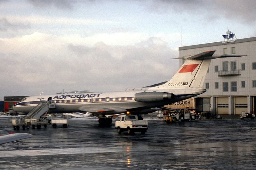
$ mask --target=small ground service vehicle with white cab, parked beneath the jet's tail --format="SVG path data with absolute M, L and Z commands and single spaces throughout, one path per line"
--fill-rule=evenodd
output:
M 191 122 L 191 120 L 194 120 L 195 116 L 190 114 L 189 109 L 170 109 L 169 115 L 164 117 L 164 120 L 167 123 L 170 122 L 176 122 L 180 120 L 181 122 L 184 122 L 187 120 L 188 122 Z

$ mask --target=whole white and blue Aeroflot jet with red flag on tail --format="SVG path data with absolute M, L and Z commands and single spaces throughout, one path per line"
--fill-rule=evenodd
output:
M 205 75 L 211 59 L 224 57 L 240 57 L 244 55 L 214 55 L 215 51 L 205 51 L 191 56 L 175 59 L 185 60 L 184 64 L 173 75 L 171 80 L 155 85 L 126 89 L 122 92 L 90 91 L 61 93 L 49 96 L 29 96 L 13 106 L 20 114 L 27 114 L 41 101 L 48 101 L 54 107 L 48 113 L 90 112 L 99 117 L 100 124 L 111 124 L 109 114 L 132 113 L 140 114 L 150 108 L 179 102 L 200 95 L 203 89 Z

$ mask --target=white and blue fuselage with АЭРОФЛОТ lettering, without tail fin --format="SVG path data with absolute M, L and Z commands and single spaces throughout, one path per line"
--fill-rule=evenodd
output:
M 160 90 L 159 93 L 170 93 L 170 90 Z M 20 103 L 13 106 L 13 110 L 21 114 L 30 112 L 40 101 L 49 101 L 55 104 L 54 109 L 49 109 L 48 113 L 68 113 L 68 112 L 97 112 L 97 113 L 123 113 L 126 111 L 136 111 L 160 107 L 166 104 L 185 100 L 187 98 L 203 93 L 204 89 L 172 89 L 171 98 L 157 98 L 152 101 L 141 102 L 136 94 L 157 92 L 156 90 L 137 90 L 123 92 L 100 92 L 100 93 L 64 93 L 47 96 L 29 96 Z M 160 94 L 161 95 L 161 94 Z M 138 101 L 139 100 L 139 101 Z M 103 109 L 101 109 L 103 108 Z M 108 110 L 104 110 L 107 108 Z

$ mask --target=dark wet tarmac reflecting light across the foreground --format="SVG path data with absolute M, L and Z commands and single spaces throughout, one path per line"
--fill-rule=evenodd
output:
M 32 138 L 0 145 L 1 169 L 256 169 L 256 120 L 198 120 L 166 124 L 149 119 L 145 135 L 119 135 L 97 119 L 70 119 L 46 129 L 14 131 L 0 118 L 0 134 Z

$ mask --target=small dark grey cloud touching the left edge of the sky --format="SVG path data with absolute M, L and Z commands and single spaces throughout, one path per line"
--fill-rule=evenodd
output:
M 7 18 L 0 18 L 0 32 L 30 29 L 30 23 L 10 22 Z

